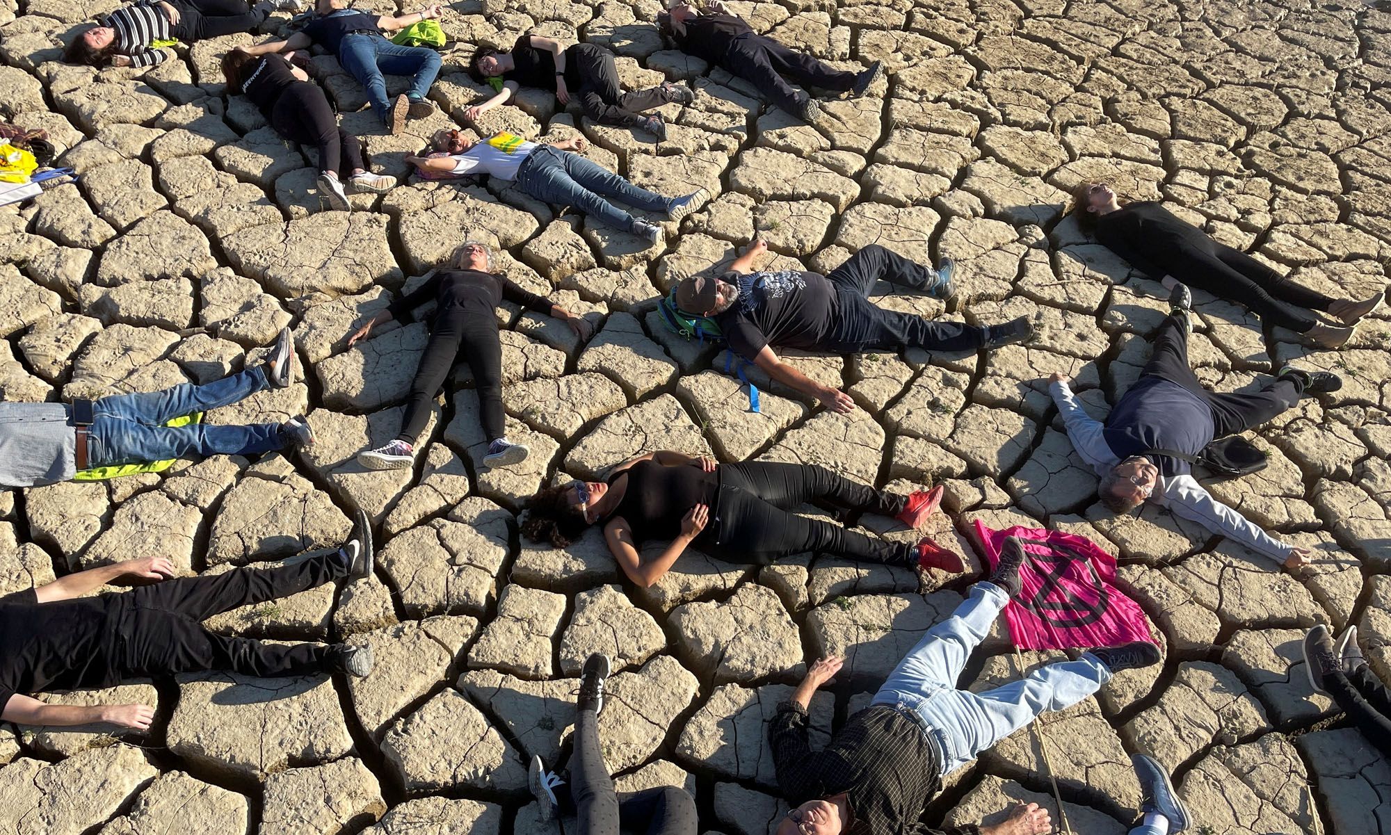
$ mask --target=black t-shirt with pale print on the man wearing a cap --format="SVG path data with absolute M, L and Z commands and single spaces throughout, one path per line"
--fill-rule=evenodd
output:
M 739 299 L 715 317 L 730 349 L 754 356 L 765 345 L 815 351 L 825 345 L 836 319 L 836 288 L 819 273 L 780 270 L 725 281 L 739 284 Z

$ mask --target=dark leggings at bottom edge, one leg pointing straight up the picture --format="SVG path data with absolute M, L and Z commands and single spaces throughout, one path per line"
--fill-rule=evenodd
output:
M 696 835 L 696 802 L 684 789 L 613 792 L 593 710 L 581 710 L 574 718 L 569 778 L 556 786 L 555 799 L 562 814 L 579 818 L 579 835 L 618 835 L 619 821 L 647 835 Z

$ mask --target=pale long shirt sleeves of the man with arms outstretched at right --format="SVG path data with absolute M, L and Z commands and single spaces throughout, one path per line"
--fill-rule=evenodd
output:
M 1111 468 L 1121 459 L 1106 444 L 1106 437 L 1102 434 L 1104 424 L 1082 411 L 1067 383 L 1050 384 L 1049 394 L 1053 395 L 1053 402 L 1057 404 L 1059 412 L 1063 415 L 1067 437 L 1072 441 L 1072 448 L 1077 450 L 1082 461 L 1091 465 L 1099 476 L 1111 472 Z M 1294 551 L 1294 546 L 1271 537 L 1259 525 L 1213 498 L 1207 488 L 1191 475 L 1164 476 L 1160 473 L 1149 501 L 1168 508 L 1175 516 L 1198 522 L 1207 530 L 1220 533 L 1277 562 L 1283 564 Z

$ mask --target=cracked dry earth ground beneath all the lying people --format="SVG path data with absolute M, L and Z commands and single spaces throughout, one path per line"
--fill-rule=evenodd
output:
M 377 668 L 352 682 L 218 674 L 49 694 L 145 701 L 159 715 L 143 736 L 0 728 L 0 831 L 541 832 L 526 758 L 554 764 L 565 750 L 574 676 L 590 651 L 606 651 L 616 671 L 601 735 L 619 788 L 684 785 L 702 831 L 762 835 L 786 809 L 764 735 L 776 701 L 810 660 L 837 651 L 846 675 L 817 696 L 817 733 L 864 706 L 979 576 L 965 536 L 976 519 L 1060 527 L 1113 550 L 1163 636 L 1161 667 L 1124 672 L 1039 722 L 1075 832 L 1120 834 L 1132 821 L 1129 752 L 1175 772 L 1205 832 L 1391 828 L 1391 767 L 1310 694 L 1298 643 L 1319 621 L 1358 623 L 1372 664 L 1391 678 L 1391 320 L 1365 324 L 1345 351 L 1310 352 L 1199 294 L 1192 355 L 1214 387 L 1256 387 L 1291 359 L 1346 381 L 1260 430 L 1266 472 L 1213 486 L 1317 551 L 1299 576 L 1167 514 L 1110 518 L 1042 383 L 1071 374 L 1103 415 L 1139 373 L 1145 335 L 1164 313 L 1159 285 L 1061 217 L 1066 193 L 1086 178 L 1161 196 L 1320 289 L 1362 298 L 1385 283 L 1391 14 L 1338 0 L 732 1 L 755 28 L 832 61 L 886 63 L 869 96 L 830 102 L 814 127 L 665 49 L 648 24 L 652 0 L 447 7 L 458 45 L 431 92 L 441 110 L 403 136 L 353 113 L 362 89 L 331 57 L 314 60 L 373 167 L 398 177 L 423 136 L 470 127 L 462 111 L 481 89 L 462 68 L 476 42 L 505 46 L 530 29 L 581 38 L 615 50 L 632 86 L 690 84 L 696 102 L 665 109 L 670 136 L 659 146 L 534 93 L 477 125 L 484 135 L 580 131 L 597 161 L 641 185 L 712 191 L 650 246 L 498 182 L 406 185 L 352 198 L 352 214 L 321 212 L 306 152 L 220 82 L 218 56 L 252 36 L 199 43 L 145 72 L 54 61 L 60 36 L 114 6 L 0 4 L 0 110 L 46 128 L 82 174 L 75 188 L 0 209 L 0 392 L 43 401 L 209 380 L 257 362 L 257 347 L 289 326 L 303 383 L 211 419 L 309 411 L 320 441 L 302 456 L 0 493 L 0 591 L 135 555 L 166 555 L 184 572 L 280 559 L 338 543 L 362 508 L 381 548 L 374 578 L 211 626 L 364 642 Z M 951 316 L 1029 315 L 1039 337 L 989 356 L 798 358 L 861 411 L 826 413 L 764 385 L 762 412 L 748 413 L 721 373 L 725 358 L 675 341 L 652 310 L 673 281 L 727 262 L 755 230 L 773 263 L 822 271 L 871 242 L 951 256 L 963 289 Z M 508 434 L 531 447 L 524 466 L 480 469 L 465 367 L 417 469 L 363 472 L 353 454 L 396 431 L 426 330 L 385 330 L 352 351 L 342 337 L 466 235 L 495 239 L 515 280 L 586 312 L 597 333 L 579 344 L 554 320 L 499 310 Z M 886 306 L 943 313 L 882 289 Z M 689 554 L 640 590 L 594 532 L 566 551 L 519 541 L 516 514 L 540 484 L 655 448 L 818 462 L 904 490 L 944 483 L 947 512 L 932 533 L 965 554 L 970 575 L 821 555 L 758 569 Z M 911 536 L 883 518 L 850 523 Z M 965 683 L 1020 672 L 997 630 Z M 1020 732 L 954 775 L 928 820 L 979 820 L 1007 799 L 1053 807 L 1046 790 L 1038 736 Z

